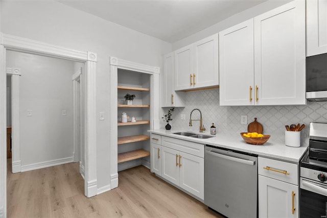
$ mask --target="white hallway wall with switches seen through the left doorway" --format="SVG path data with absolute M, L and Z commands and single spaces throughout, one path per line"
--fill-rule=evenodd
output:
M 7 66 L 19 67 L 22 167 L 73 156 L 74 62 L 7 51 Z M 32 110 L 32 116 L 27 111 Z M 66 110 L 66 116 L 61 111 Z

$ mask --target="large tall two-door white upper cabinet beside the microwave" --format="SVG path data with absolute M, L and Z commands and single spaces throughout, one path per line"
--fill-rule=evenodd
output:
M 254 17 L 219 37 L 220 105 L 306 104 L 305 1 Z

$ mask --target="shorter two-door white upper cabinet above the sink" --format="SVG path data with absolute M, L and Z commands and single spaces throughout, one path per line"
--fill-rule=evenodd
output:
M 174 55 L 175 90 L 219 84 L 218 34 L 182 47 Z

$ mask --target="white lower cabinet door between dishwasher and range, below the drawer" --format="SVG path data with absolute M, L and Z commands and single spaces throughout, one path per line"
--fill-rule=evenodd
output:
M 298 186 L 259 175 L 258 191 L 259 217 L 298 217 Z

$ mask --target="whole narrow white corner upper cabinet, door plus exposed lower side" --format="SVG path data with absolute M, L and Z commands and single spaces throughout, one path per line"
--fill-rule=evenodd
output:
M 184 107 L 184 92 L 175 92 L 174 53 L 163 57 L 162 107 Z

